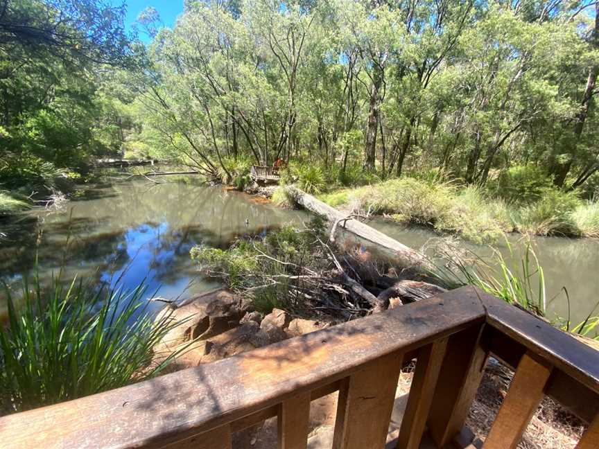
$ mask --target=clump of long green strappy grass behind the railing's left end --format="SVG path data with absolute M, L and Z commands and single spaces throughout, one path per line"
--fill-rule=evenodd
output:
M 43 289 L 23 282 L 21 310 L 8 287 L 8 324 L 0 327 L 3 412 L 58 403 L 156 376 L 178 353 L 153 364 L 153 347 L 180 324 L 154 319 L 146 288 L 94 288 L 60 276 Z

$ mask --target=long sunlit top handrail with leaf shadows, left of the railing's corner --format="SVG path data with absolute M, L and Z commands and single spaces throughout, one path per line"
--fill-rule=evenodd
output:
M 473 288 L 285 340 L 219 362 L 0 419 L 12 448 L 161 448 L 233 423 L 485 319 Z M 119 423 L 119 425 L 114 425 Z

